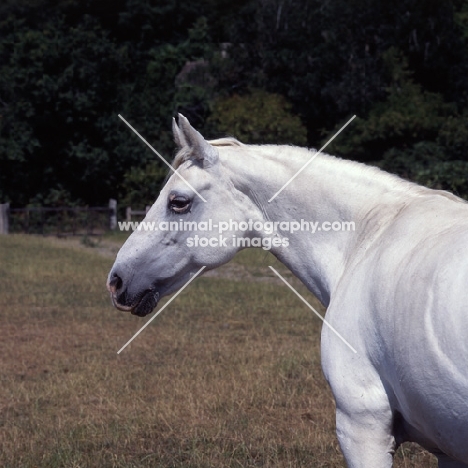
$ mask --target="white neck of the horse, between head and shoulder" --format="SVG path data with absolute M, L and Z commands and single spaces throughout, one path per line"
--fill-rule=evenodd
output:
M 312 152 L 285 146 L 246 146 L 220 151 L 220 157 L 236 189 L 261 209 L 265 220 L 318 223 L 314 234 L 285 233 L 289 247 L 272 249 L 272 253 L 325 306 L 351 260 L 350 252 L 371 242 L 385 224 L 383 220 L 396 213 L 416 187 L 363 164 L 318 155 L 269 202 L 313 157 Z M 324 222 L 354 222 L 355 230 L 319 230 Z

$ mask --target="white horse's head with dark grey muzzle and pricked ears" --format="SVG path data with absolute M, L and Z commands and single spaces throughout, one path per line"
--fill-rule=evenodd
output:
M 202 266 L 205 271 L 216 268 L 240 250 L 230 242 L 236 235 L 230 220 L 261 217 L 255 204 L 234 187 L 216 145 L 182 115 L 179 124 L 173 121 L 173 132 L 179 150 L 173 163 L 177 172 L 141 229 L 120 249 L 107 281 L 114 306 L 142 317 Z M 220 223 L 228 226 L 223 234 L 217 229 Z

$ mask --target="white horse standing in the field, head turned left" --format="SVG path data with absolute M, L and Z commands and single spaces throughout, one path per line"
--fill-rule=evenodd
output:
M 468 204 L 322 154 L 269 203 L 313 152 L 208 142 L 183 116 L 174 137 L 180 151 L 173 166 L 185 180 L 169 178 L 146 221 L 205 224 L 135 231 L 109 274 L 114 305 L 146 315 L 202 266 L 228 262 L 240 247 L 207 232 L 210 219 L 213 226 L 245 221 L 248 231 L 231 222 L 224 234 L 251 240 L 271 240 L 258 229 L 267 221 L 354 221 L 354 232 L 279 229 L 271 242 L 357 351 L 322 328 L 322 367 L 348 466 L 391 467 L 396 448 L 414 441 L 441 468 L 467 467 Z M 211 246 L 195 248 L 196 235 Z

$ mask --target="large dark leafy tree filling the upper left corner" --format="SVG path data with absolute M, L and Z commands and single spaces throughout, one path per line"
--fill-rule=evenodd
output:
M 62 1 L 57 10 L 45 0 L 3 5 L 2 200 L 25 205 L 52 200 L 57 191 L 93 204 L 123 196 L 124 174 L 144 168 L 154 155 L 122 124 L 119 113 L 170 157 L 171 117 L 181 98 L 175 78 L 187 61 L 203 57 L 210 47 L 202 20 L 186 36 L 176 31 L 173 43 L 163 40 L 174 5 L 151 9 L 158 19 L 154 24 L 164 25 L 151 32 L 153 38 L 160 35 L 151 46 L 144 27 L 137 38 L 122 39 L 126 8 L 146 12 L 146 2 L 120 2 L 122 11 L 112 11 L 110 19 L 93 2 Z M 199 99 L 190 90 L 184 93 L 182 107 Z

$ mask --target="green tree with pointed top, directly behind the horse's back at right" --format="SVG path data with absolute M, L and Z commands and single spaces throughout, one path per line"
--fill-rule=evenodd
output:
M 389 49 L 384 60 L 391 77 L 386 100 L 376 103 L 366 118 L 356 119 L 334 149 L 468 198 L 468 114 L 416 84 L 396 49 Z

